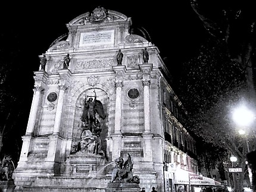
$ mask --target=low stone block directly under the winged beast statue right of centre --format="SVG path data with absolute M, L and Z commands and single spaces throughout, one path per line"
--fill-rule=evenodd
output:
M 105 191 L 107 192 L 139 192 L 141 191 L 141 188 L 139 187 L 138 183 L 135 182 L 109 182 L 107 185 L 107 188 L 105 188 Z

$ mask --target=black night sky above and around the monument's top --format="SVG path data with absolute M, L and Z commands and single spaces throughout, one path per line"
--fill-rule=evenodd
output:
M 189 0 L 5 2 L 0 12 L 0 61 L 15 68 L 11 86 L 24 97 L 25 124 L 33 97 L 33 71 L 40 65 L 38 55 L 68 33 L 65 24 L 98 6 L 131 17 L 133 24 L 146 29 L 172 74 L 179 75 L 180 64 L 196 55 L 207 34 Z

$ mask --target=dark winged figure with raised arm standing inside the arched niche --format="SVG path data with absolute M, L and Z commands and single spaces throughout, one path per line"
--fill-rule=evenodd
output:
M 82 121 L 82 127 L 85 130 L 90 130 L 92 134 L 99 137 L 99 133 L 101 133 L 101 123 L 96 118 L 96 114 L 98 114 L 102 119 L 105 119 L 106 115 L 101 101 L 96 99 L 95 90 L 93 90 L 93 93 L 95 93 L 94 100 L 92 99 L 93 96 L 86 96 L 83 114 L 80 119 Z

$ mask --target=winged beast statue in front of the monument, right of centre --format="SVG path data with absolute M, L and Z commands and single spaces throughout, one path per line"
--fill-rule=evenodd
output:
M 115 159 L 115 168 L 110 182 L 134 182 L 139 184 L 139 176 L 133 176 L 132 169 L 133 163 L 129 153 L 126 162 L 124 162 L 123 158 Z

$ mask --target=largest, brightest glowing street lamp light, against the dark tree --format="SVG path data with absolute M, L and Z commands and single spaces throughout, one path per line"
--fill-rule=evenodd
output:
M 254 113 L 246 108 L 246 106 L 240 106 L 233 112 L 233 120 L 237 125 L 249 126 L 254 121 Z

